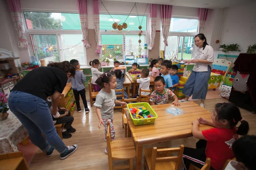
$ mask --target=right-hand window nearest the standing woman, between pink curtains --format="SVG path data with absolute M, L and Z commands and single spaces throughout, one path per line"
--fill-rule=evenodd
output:
M 162 29 L 162 27 L 161 27 Z M 194 37 L 198 34 L 198 19 L 178 18 L 171 19 L 168 35 L 168 46 L 163 43 L 161 31 L 160 50 L 165 51 L 166 59 L 191 59 L 194 47 Z

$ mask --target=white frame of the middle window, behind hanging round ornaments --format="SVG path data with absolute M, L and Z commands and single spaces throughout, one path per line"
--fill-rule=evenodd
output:
M 108 14 L 108 12 L 99 12 L 99 14 Z M 128 15 L 129 13 L 122 13 L 122 12 L 111 12 L 110 14 L 113 14 L 113 15 Z M 136 15 L 135 13 L 131 13 L 130 15 Z M 138 13 L 138 15 L 142 15 L 143 14 L 140 14 Z M 145 16 L 147 16 L 147 27 L 146 27 L 146 30 L 143 31 L 141 34 L 142 35 L 145 35 L 145 44 L 148 44 L 148 34 L 149 34 L 149 14 L 145 14 Z M 110 31 L 110 30 L 108 30 Z M 125 43 L 125 35 L 138 35 L 139 34 L 139 31 L 140 30 L 137 30 L 137 31 L 129 31 L 129 29 L 123 29 L 122 32 L 118 31 L 118 29 L 114 30 L 114 32 L 105 32 L 105 30 L 99 30 L 99 40 L 102 42 L 102 39 L 101 39 L 101 36 L 102 34 L 108 34 L 108 35 L 123 35 L 123 47 L 124 47 L 124 43 Z M 138 35 L 138 40 L 139 40 L 139 35 Z M 143 45 L 144 46 L 144 45 Z M 123 62 L 125 62 L 125 51 L 124 51 L 124 48 L 122 48 L 122 54 L 123 54 Z M 145 54 L 144 54 L 145 55 Z M 147 49 L 147 55 L 148 55 L 148 49 Z M 102 54 L 99 55 L 99 58 L 101 59 L 102 58 Z

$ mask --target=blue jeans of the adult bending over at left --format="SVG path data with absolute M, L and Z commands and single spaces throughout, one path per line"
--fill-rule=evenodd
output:
M 28 130 L 33 144 L 43 152 L 49 150 L 50 146 L 59 153 L 64 153 L 67 150 L 66 145 L 56 132 L 51 112 L 44 99 L 21 91 L 12 91 L 9 95 L 8 105 L 12 113 Z M 42 132 L 48 142 L 44 139 Z

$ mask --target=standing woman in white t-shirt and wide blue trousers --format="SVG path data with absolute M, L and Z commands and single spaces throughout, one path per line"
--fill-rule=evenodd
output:
M 192 99 L 201 99 L 200 106 L 204 108 L 204 100 L 208 90 L 208 81 L 211 76 L 212 62 L 214 60 L 213 48 L 207 44 L 204 34 L 197 34 L 194 39 L 196 48 L 191 60 L 186 62 L 195 63 L 195 66 L 183 88 L 185 99 L 180 102 L 187 102 L 193 94 Z

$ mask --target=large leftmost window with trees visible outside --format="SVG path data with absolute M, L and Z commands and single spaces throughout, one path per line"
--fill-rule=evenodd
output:
M 24 11 L 31 53 L 46 62 L 79 60 L 87 65 L 79 14 Z

